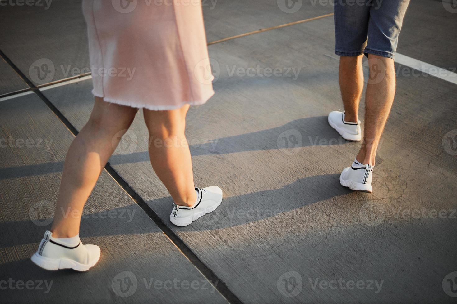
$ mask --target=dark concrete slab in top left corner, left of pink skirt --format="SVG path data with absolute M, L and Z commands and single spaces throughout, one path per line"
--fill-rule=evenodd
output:
M 21 72 L 35 85 L 88 72 L 81 0 L 16 2 L 2 4 L 8 31 L 0 32 L 0 49 Z

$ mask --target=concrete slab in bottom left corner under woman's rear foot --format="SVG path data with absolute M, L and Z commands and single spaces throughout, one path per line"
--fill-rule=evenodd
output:
M 34 265 L 73 136 L 35 94 L 0 102 L 0 121 L 2 303 L 226 303 L 106 172 L 80 232 L 100 262 L 87 273 Z

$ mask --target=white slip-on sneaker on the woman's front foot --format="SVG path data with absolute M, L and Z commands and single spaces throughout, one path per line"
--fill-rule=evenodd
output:
M 222 202 L 222 189 L 218 186 L 195 188 L 198 192 L 197 201 L 192 207 L 184 207 L 173 204 L 170 214 L 170 222 L 176 226 L 187 226 L 199 217 L 216 210 Z

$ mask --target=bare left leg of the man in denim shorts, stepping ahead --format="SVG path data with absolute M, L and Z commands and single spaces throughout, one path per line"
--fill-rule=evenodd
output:
M 345 121 L 357 122 L 358 108 L 363 91 L 363 55 L 340 57 L 340 91 L 345 109 Z

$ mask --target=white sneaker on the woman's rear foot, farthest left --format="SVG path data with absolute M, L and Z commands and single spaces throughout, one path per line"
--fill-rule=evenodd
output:
M 32 262 L 47 270 L 72 268 L 86 271 L 94 266 L 100 258 L 100 247 L 83 245 L 80 242 L 75 247 L 59 244 L 52 237 L 52 232 L 44 233 L 38 251 L 32 255 Z

